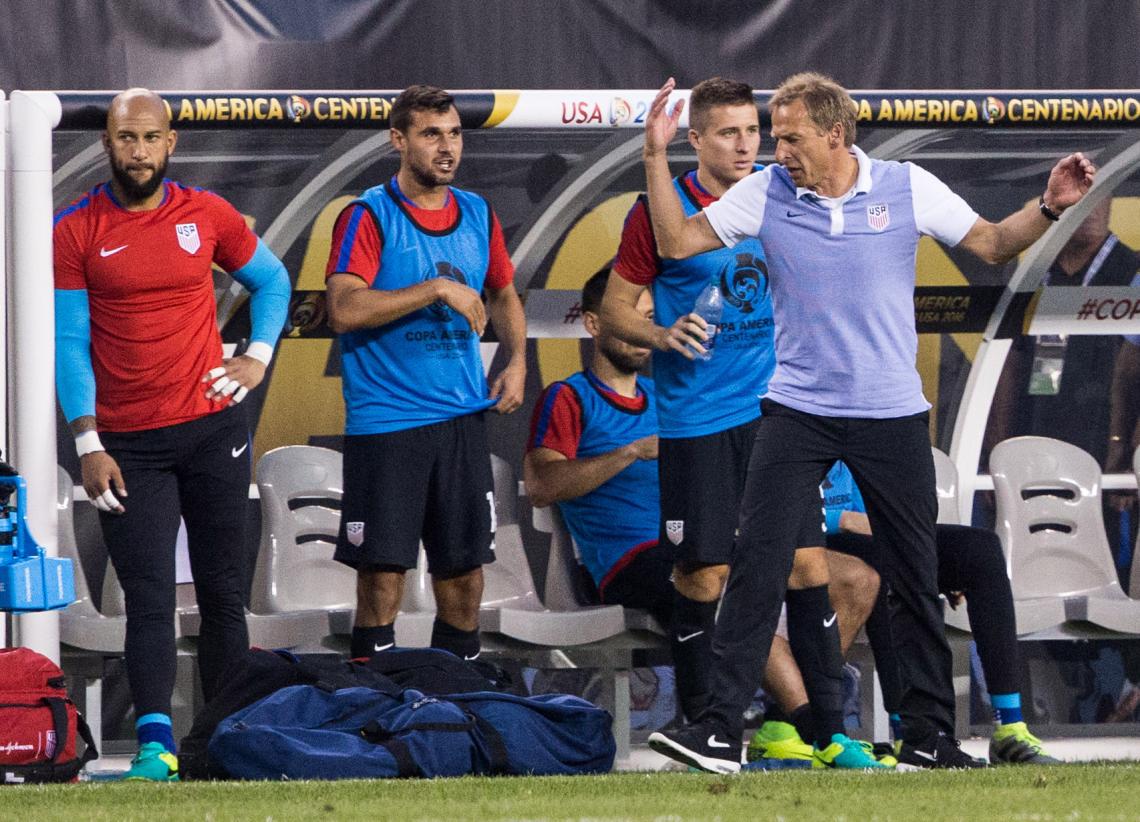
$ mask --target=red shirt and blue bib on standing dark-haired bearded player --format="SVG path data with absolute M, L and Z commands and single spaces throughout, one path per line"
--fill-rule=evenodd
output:
M 337 218 L 326 276 L 352 274 L 377 291 L 448 277 L 475 291 L 514 277 L 502 229 L 477 194 L 448 190 L 442 209 L 418 209 L 394 178 Z M 345 433 L 400 431 L 494 405 L 466 319 L 435 303 L 377 328 L 341 334 Z

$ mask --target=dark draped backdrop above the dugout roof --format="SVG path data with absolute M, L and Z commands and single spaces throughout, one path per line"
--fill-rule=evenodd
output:
M 1140 88 L 1132 0 L 5 0 L 11 89 Z

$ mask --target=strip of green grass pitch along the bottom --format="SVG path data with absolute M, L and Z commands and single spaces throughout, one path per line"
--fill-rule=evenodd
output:
M 60 820 L 1140 820 L 1140 763 L 972 772 L 620 773 L 0 788 L 0 817 Z

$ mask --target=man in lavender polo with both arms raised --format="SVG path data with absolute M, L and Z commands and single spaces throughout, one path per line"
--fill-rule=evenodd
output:
M 886 558 L 904 682 L 899 764 L 977 767 L 953 739 L 951 654 L 935 552 L 930 404 L 914 366 L 914 257 L 921 235 L 1003 262 L 1036 241 L 1092 185 L 1081 154 L 1059 161 L 1039 203 L 997 223 L 933 174 L 870 160 L 855 105 L 829 78 L 797 74 L 772 96 L 776 163 L 685 218 L 666 150 L 682 104 L 674 81 L 645 121 L 645 176 L 658 251 L 684 258 L 758 237 L 768 258 L 776 369 L 749 465 L 740 537 L 714 637 L 711 702 L 699 721 L 654 733 L 658 751 L 718 773 L 740 768 L 741 715 L 772 643 L 805 500 L 842 459 Z M 699 344 L 705 323 L 685 327 Z

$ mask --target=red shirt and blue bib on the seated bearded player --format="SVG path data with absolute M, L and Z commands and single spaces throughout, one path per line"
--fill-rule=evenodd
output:
M 637 389 L 636 397 L 622 397 L 589 371 L 552 383 L 535 406 L 527 450 L 549 448 L 580 459 L 656 434 L 653 381 L 638 377 Z M 557 503 L 600 589 L 657 545 L 660 505 L 656 459 L 638 459 L 588 494 Z

